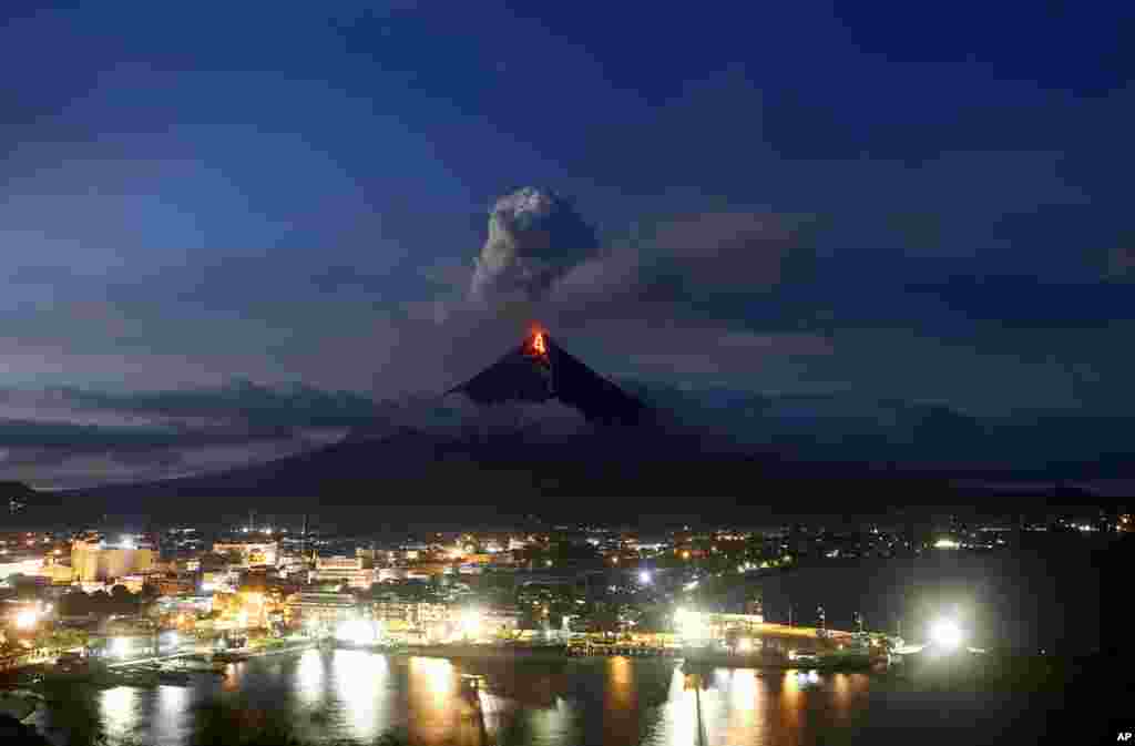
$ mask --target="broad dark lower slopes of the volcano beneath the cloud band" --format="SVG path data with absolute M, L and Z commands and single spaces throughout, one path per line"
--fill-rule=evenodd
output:
M 397 508 L 397 514 L 454 521 L 527 513 L 627 521 L 701 511 L 735 512 L 740 520 L 764 510 L 861 513 L 959 500 L 1000 513 L 1083 500 L 1058 500 L 1043 487 L 994 496 L 978 487 L 959 489 L 952 484 L 957 476 L 903 472 L 888 464 L 788 461 L 770 452 L 728 453 L 699 437 L 639 427 L 603 428 L 560 441 L 404 430 L 222 473 L 107 486 L 72 496 L 82 498 L 73 503 L 76 508 L 83 504 L 96 512 L 104 510 L 99 505 L 114 512 L 176 509 L 194 514 L 232 512 L 233 505 L 310 505 L 317 511 L 388 506 Z M 306 501 L 280 502 L 284 497 Z

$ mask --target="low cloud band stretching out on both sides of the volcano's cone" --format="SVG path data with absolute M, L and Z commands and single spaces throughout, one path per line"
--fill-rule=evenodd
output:
M 703 455 L 771 451 L 802 461 L 1039 473 L 1074 462 L 1111 464 L 1121 455 L 1111 453 L 1113 444 L 1129 428 L 1123 419 L 1036 417 L 1006 422 L 936 403 L 851 394 L 779 395 L 616 382 L 656 410 L 656 433 L 698 436 Z M 376 463 L 381 463 L 379 441 L 407 430 L 449 443 L 498 435 L 526 442 L 568 438 L 586 453 L 594 431 L 579 412 L 556 402 L 482 406 L 460 394 L 376 402 L 247 383 L 136 397 L 2 391 L 0 402 L 0 480 L 37 488 L 224 471 L 345 438 L 375 441 Z M 35 402 L 42 406 L 33 406 Z M 638 435 L 628 430 L 627 437 Z M 1108 473 L 1115 471 L 1112 466 Z

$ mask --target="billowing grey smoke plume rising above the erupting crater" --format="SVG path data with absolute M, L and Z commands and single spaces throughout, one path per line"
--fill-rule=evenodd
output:
M 493 206 L 470 295 L 494 303 L 539 300 L 557 279 L 598 251 L 595 228 L 568 199 L 526 186 Z

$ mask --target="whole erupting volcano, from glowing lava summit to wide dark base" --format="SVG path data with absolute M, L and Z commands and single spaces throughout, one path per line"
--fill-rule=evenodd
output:
M 449 396 L 464 400 L 453 408 L 457 412 L 469 403 L 485 411 L 471 418 L 472 425 L 460 417 L 454 422 L 446 419 Z M 56 494 L 98 514 L 107 509 L 145 514 L 155 498 L 169 497 L 191 498 L 169 502 L 170 510 L 184 505 L 187 512 L 217 513 L 234 498 L 267 506 L 280 497 L 303 497 L 343 510 L 380 505 L 402 516 L 444 505 L 455 523 L 528 514 L 537 504 L 544 512 L 592 510 L 611 520 L 634 519 L 645 501 L 659 497 L 695 496 L 698 509 L 709 500 L 735 508 L 767 504 L 765 495 L 801 504 L 805 496 L 838 493 L 849 481 L 880 505 L 906 504 L 911 494 L 947 504 L 958 494 L 952 481 L 959 475 L 952 470 L 903 472 L 890 462 L 835 459 L 839 452 L 827 461 L 808 460 L 799 456 L 802 446 L 796 442 L 745 446 L 729 431 L 690 426 L 665 399 L 647 395 L 646 401 L 650 404 L 536 328 L 445 395 L 376 408 L 371 422 L 337 443 L 226 471 Z M 510 420 L 495 428 L 479 419 L 495 408 L 511 413 L 510 405 L 545 403 L 574 410 L 588 427 L 562 433 Z M 403 404 L 407 414 L 400 412 Z M 763 497 L 755 502 L 758 492 Z

